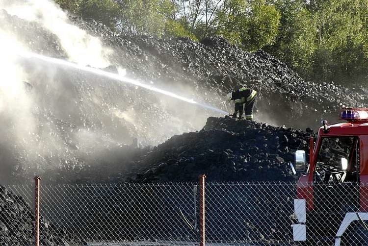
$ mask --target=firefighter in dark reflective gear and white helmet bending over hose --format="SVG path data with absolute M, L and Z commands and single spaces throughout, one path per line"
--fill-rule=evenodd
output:
M 233 118 L 243 119 L 243 107 L 245 110 L 245 119 L 253 121 L 253 105 L 257 97 L 257 91 L 250 88 L 240 88 L 237 91 L 231 92 L 226 96 L 226 99 L 235 102 L 235 112 L 232 115 Z

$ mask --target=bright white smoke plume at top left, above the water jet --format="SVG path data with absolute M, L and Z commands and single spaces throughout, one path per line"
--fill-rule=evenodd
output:
M 0 0 L 0 9 L 29 22 L 36 22 L 52 32 L 60 40 L 69 60 L 80 65 L 105 68 L 106 57 L 112 52 L 101 41 L 72 25 L 67 13 L 50 0 Z

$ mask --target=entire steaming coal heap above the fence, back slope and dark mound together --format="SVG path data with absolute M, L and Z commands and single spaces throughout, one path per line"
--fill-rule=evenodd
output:
M 27 40 L 26 43 L 30 44 L 28 49 L 68 59 L 58 38 L 42 25 L 4 11 L 0 15 L 0 24 L 7 31 L 14 32 L 11 27 L 17 26 L 14 35 L 20 41 Z M 317 127 L 321 118 L 336 119 L 340 107 L 355 105 L 355 101 L 367 101 L 366 94 L 359 90 L 333 83 L 305 81 L 276 57 L 262 50 L 251 53 L 238 49 L 222 37 L 208 37 L 201 42 L 188 38 L 158 39 L 117 34 L 92 20 L 73 17 L 71 23 L 100 37 L 103 44 L 113 51 L 108 57 L 111 65 L 125 68 L 128 77 L 145 83 L 153 82 L 173 91 L 190 91 L 188 96 L 228 111 L 233 110 L 233 105 L 224 102 L 223 98 L 229 91 L 245 85 L 255 88 L 259 91 L 256 119 L 273 125 Z M 27 159 L 26 153 L 13 149 L 17 145 L 22 150 L 23 143 L 8 145 L 9 140 L 0 144 L 5 145 L 3 149 L 9 153 L 9 166 L 18 162 L 24 162 L 24 166 L 28 163 L 52 168 L 67 166 L 63 173 L 70 175 L 71 179 L 64 179 L 61 174 L 60 179 L 68 182 L 76 179 L 80 182 L 87 179 L 90 182 L 131 179 L 139 182 L 181 181 L 194 180 L 200 172 L 207 173 L 213 180 L 290 180 L 293 176 L 289 173 L 288 162 L 292 160 L 292 152 L 302 138 L 310 134 L 292 128 L 238 123 L 228 118 L 210 118 L 204 129 L 194 132 L 215 113 L 198 110 L 184 102 L 165 108 L 161 98 L 147 90 L 81 71 L 55 68 L 56 82 L 60 86 L 57 91 L 68 95 L 61 97 L 60 110 L 55 103 L 55 97 L 60 95 L 48 91 L 42 83 L 42 78 L 47 77 L 43 74 L 47 69 L 36 70 L 31 62 L 24 63 L 28 66 L 26 70 L 35 74 L 30 78 L 37 104 L 32 114 L 40 123 L 53 123 L 50 128 L 39 127 L 38 135 L 60 136 L 63 143 L 61 147 L 56 145 L 56 149 L 47 148 L 32 160 Z M 50 65 L 43 66 L 47 68 Z M 186 110 L 182 110 L 183 107 Z M 128 110 L 133 112 L 130 120 L 121 114 Z M 96 148 L 81 150 L 81 140 L 86 140 L 86 137 L 77 138 L 75 133 L 84 132 L 86 128 L 87 132 L 100 133 L 90 142 L 99 147 L 97 150 L 106 152 L 106 156 L 119 152 L 119 144 L 129 145 L 134 138 L 144 145 L 156 145 L 174 134 L 192 132 L 174 136 L 152 152 L 134 156 L 132 160 L 113 158 L 113 161 L 107 161 L 107 158 L 99 158 L 101 154 Z M 8 134 L 8 130 L 5 133 Z M 12 134 L 16 132 L 10 136 Z M 48 139 L 26 140 L 29 143 L 24 148 L 33 144 L 49 146 Z M 307 148 L 305 143 L 302 142 L 301 147 Z M 124 172 L 119 170 L 119 175 L 109 172 L 116 171 L 122 162 L 131 173 L 125 168 Z M 109 170 L 110 166 L 113 168 Z M 78 167 L 78 173 L 74 172 L 75 167 Z M 94 173 L 96 167 L 107 170 L 108 177 L 101 172 L 102 169 Z M 140 173 L 136 175 L 135 170 L 140 170 Z M 9 176 L 5 171 L 2 173 Z M 36 171 L 37 175 L 42 175 L 42 170 Z M 82 173 L 88 175 L 80 179 Z M 73 179 L 73 176 L 77 178 Z

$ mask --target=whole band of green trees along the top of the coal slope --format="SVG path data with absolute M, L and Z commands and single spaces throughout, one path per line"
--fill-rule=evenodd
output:
M 307 79 L 368 79 L 368 0 L 56 0 L 117 32 L 265 49 Z

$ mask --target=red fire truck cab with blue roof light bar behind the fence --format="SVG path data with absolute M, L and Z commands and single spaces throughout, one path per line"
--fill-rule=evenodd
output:
M 345 108 L 340 118 L 342 123 L 322 121 L 309 151 L 297 150 L 290 164 L 301 173 L 293 239 L 306 245 L 324 237 L 333 242 L 328 245 L 368 245 L 368 109 Z M 344 243 L 349 233 L 350 243 Z

